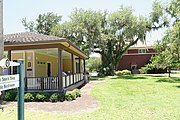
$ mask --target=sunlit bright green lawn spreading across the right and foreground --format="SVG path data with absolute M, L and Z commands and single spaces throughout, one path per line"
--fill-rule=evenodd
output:
M 104 81 L 91 91 L 99 100 L 94 112 L 65 115 L 26 111 L 25 120 L 180 120 L 180 78 L 134 75 L 106 77 Z M 15 113 L 0 112 L 0 119 L 14 120 Z

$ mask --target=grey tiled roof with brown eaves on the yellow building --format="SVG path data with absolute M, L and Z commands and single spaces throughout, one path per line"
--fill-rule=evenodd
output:
M 61 48 L 83 59 L 88 58 L 88 56 L 84 52 L 82 52 L 77 46 L 75 46 L 72 42 L 68 41 L 65 38 L 23 32 L 5 35 L 3 39 L 5 50 L 39 49 L 39 51 L 43 52 L 44 49 L 50 50 L 50 48 Z M 55 49 L 45 52 L 56 55 L 57 53 L 54 52 L 54 50 Z

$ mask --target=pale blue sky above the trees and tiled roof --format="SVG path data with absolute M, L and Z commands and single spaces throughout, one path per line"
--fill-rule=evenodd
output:
M 169 0 L 161 0 L 163 2 Z M 4 34 L 26 31 L 22 19 L 35 21 L 39 14 L 53 12 L 67 21 L 75 8 L 116 11 L 120 5 L 131 6 L 135 15 L 149 16 L 153 0 L 4 0 Z M 164 29 L 152 32 L 147 42 L 153 43 L 163 36 Z

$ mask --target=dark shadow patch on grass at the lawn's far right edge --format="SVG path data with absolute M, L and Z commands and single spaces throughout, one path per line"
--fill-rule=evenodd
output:
M 180 83 L 179 77 L 161 78 L 156 82 Z

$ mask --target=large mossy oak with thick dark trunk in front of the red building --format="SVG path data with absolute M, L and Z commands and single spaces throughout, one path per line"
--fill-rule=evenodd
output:
M 107 21 L 102 39 L 106 41 L 107 47 L 104 47 L 101 53 L 104 57 L 101 72 L 105 75 L 114 74 L 113 71 L 117 69 L 124 52 L 138 41 L 145 42 L 147 32 L 168 24 L 158 1 L 154 2 L 149 19 L 136 17 L 131 8 L 121 6 Z

